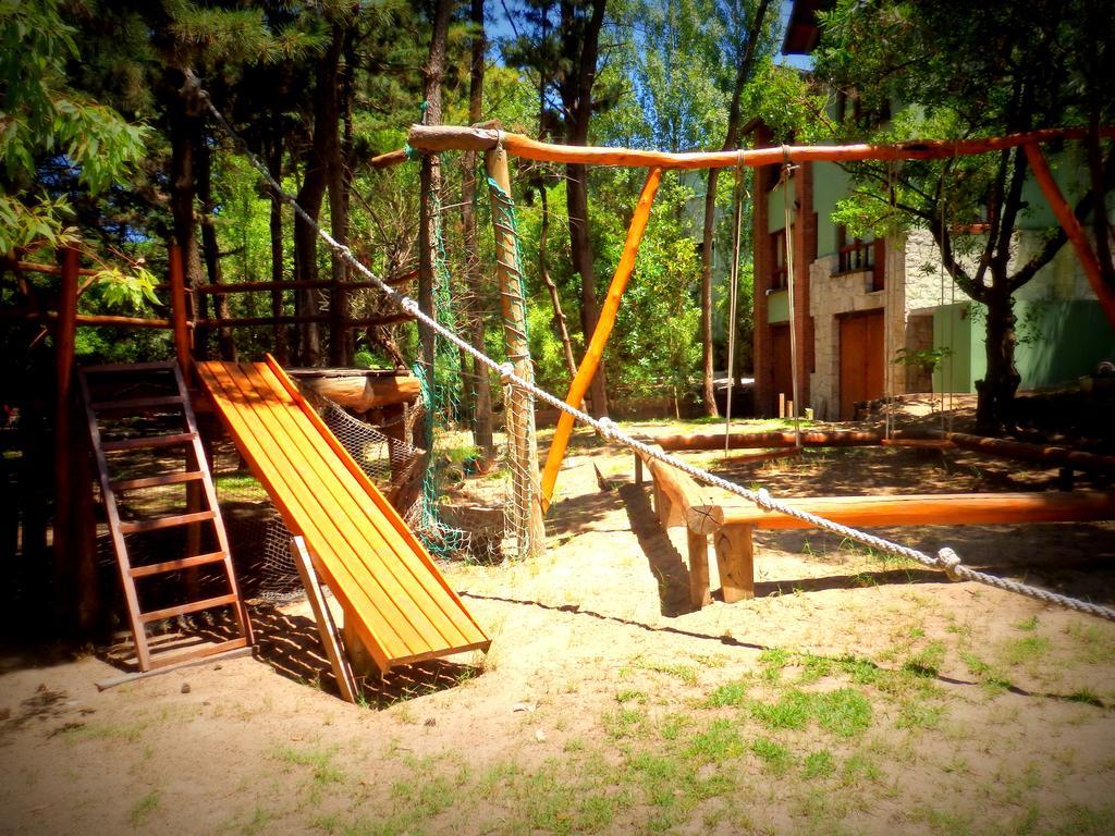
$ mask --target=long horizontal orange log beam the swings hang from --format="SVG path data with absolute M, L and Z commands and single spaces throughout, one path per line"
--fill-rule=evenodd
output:
M 805 162 L 852 162 L 859 159 L 943 159 L 967 154 L 1015 148 L 1053 139 L 1083 139 L 1086 128 L 1045 128 L 1008 136 L 975 139 L 914 139 L 903 143 L 856 145 L 784 145 L 750 150 L 668 153 L 633 148 L 600 148 L 579 145 L 552 145 L 492 128 L 452 125 L 413 125 L 407 143 L 424 153 L 445 150 L 485 152 L 502 145 L 512 156 L 543 163 L 583 163 L 591 165 L 661 166 L 662 168 L 734 168 Z M 1101 135 L 1115 136 L 1115 127 Z

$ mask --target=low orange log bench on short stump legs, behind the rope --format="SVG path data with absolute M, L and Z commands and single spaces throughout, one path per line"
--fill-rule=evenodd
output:
M 743 499 L 710 503 L 687 475 L 649 456 L 641 464 L 655 479 L 655 509 L 667 528 L 688 533 L 690 601 L 710 600 L 708 537 L 712 537 L 726 603 L 755 596 L 757 528 L 808 528 L 807 523 L 763 511 Z M 707 495 L 707 492 L 705 492 Z M 925 494 L 905 496 L 811 496 L 783 499 L 794 508 L 855 527 L 902 525 L 996 525 L 1080 523 L 1115 518 L 1115 493 Z

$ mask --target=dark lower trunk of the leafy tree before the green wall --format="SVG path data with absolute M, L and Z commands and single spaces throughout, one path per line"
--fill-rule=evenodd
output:
M 1015 392 L 1022 380 L 1015 368 L 1018 318 L 1009 293 L 989 292 L 983 301 L 987 305 L 987 372 L 982 380 L 976 381 L 979 393 L 976 429 L 985 436 L 999 436 L 1015 428 Z

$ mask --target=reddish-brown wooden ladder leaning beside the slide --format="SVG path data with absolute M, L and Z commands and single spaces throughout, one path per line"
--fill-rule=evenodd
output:
M 202 447 L 197 431 L 197 421 L 190 395 L 177 362 L 128 363 L 118 366 L 90 366 L 80 369 L 81 395 L 85 402 L 86 418 L 89 425 L 89 438 L 94 456 L 97 459 L 97 470 L 100 478 L 100 493 L 105 500 L 105 513 L 108 518 L 108 529 L 113 539 L 113 550 L 124 585 L 124 599 L 128 611 L 128 624 L 135 639 L 136 660 L 142 672 L 154 671 L 169 667 L 181 667 L 205 657 L 242 651 L 252 644 L 252 628 L 248 620 L 248 610 L 240 595 L 240 587 L 233 572 L 229 553 L 229 537 L 225 533 L 221 511 L 217 507 L 216 492 L 210 476 L 205 450 Z M 163 391 L 156 397 L 133 397 L 128 399 L 96 400 L 100 390 L 112 387 L 114 391 L 126 389 L 134 385 L 139 389 L 144 381 L 157 381 Z M 172 420 L 181 419 L 181 431 L 161 435 L 137 436 L 123 439 L 105 440 L 104 422 L 106 418 L 132 418 L 140 416 L 167 416 Z M 106 454 L 132 450 L 172 450 L 180 448 L 185 451 L 185 469 L 167 470 L 154 476 L 140 478 L 115 478 Z M 114 457 L 113 465 L 119 459 Z M 153 516 L 146 519 L 122 519 L 119 496 L 127 490 L 142 490 L 167 485 L 185 485 L 191 497 L 187 513 L 176 513 Z M 196 508 L 195 508 L 196 506 Z M 216 550 L 207 553 L 201 551 L 202 538 L 200 526 L 213 526 Z M 183 555 L 175 560 L 158 563 L 133 565 L 128 554 L 127 535 L 147 534 L 175 526 L 193 526 L 186 533 L 186 546 Z M 193 572 L 198 566 L 220 564 L 227 592 L 215 597 L 190 601 L 176 606 L 144 611 L 139 604 L 137 581 L 165 575 L 168 572 Z M 187 576 L 188 577 L 188 576 Z M 197 594 L 188 581 L 183 584 L 187 594 Z M 239 628 L 239 635 L 216 643 L 205 643 L 177 652 L 158 651 L 152 647 L 147 635 L 147 625 L 166 619 L 174 619 L 190 613 L 217 607 L 232 607 Z

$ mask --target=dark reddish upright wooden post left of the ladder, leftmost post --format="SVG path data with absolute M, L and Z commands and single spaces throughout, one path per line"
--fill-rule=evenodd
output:
M 71 438 L 74 343 L 77 337 L 77 285 L 80 254 L 77 247 L 61 251 L 61 286 L 55 323 L 55 615 L 59 624 L 74 619 L 72 496 L 74 439 Z

